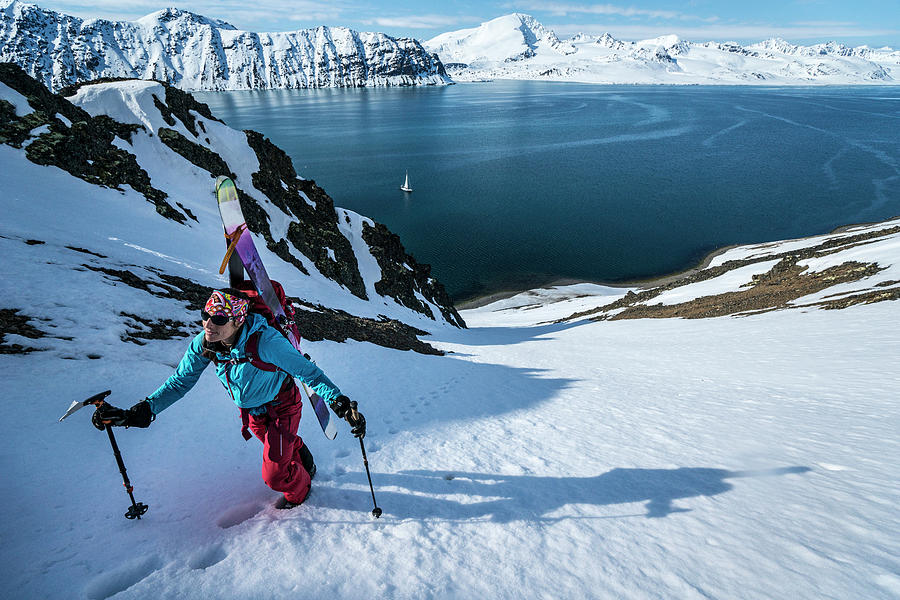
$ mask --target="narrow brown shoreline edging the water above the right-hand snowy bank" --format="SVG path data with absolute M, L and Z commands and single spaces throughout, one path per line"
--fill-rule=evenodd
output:
M 535 289 L 548 290 L 548 289 L 551 289 L 554 287 L 576 285 L 579 283 L 590 283 L 590 284 L 594 284 L 594 285 L 602 285 L 604 287 L 611 287 L 611 288 L 637 288 L 640 290 L 648 290 L 648 289 L 652 289 L 655 287 L 659 287 L 661 285 L 666 285 L 668 283 L 672 283 L 673 281 L 677 281 L 678 279 L 681 279 L 683 277 L 688 277 L 690 275 L 693 275 L 697 271 L 702 271 L 703 269 L 705 269 L 709 266 L 709 264 L 713 261 L 713 259 L 715 259 L 718 256 L 721 256 L 722 254 L 724 254 L 725 252 L 728 252 L 729 250 L 732 250 L 733 248 L 740 248 L 741 246 L 756 246 L 756 245 L 760 245 L 760 244 L 771 244 L 774 242 L 781 242 L 781 241 L 806 240 L 806 239 L 810 239 L 810 238 L 814 238 L 814 237 L 822 237 L 825 235 L 834 235 L 834 234 L 838 234 L 838 233 L 845 233 L 856 227 L 866 227 L 869 225 L 878 225 L 880 223 L 888 223 L 890 221 L 895 221 L 897 219 L 900 219 L 900 215 L 891 217 L 889 219 L 884 219 L 883 221 L 873 221 L 873 222 L 869 222 L 869 223 L 851 223 L 848 225 L 841 225 L 839 227 L 835 227 L 828 233 L 819 233 L 819 234 L 814 234 L 814 235 L 801 236 L 798 238 L 790 238 L 789 240 L 774 240 L 774 241 L 769 241 L 769 242 L 757 242 L 757 243 L 749 243 L 749 244 L 731 244 L 729 246 L 722 246 L 722 247 L 716 248 L 715 250 L 712 250 L 711 252 L 706 254 L 702 259 L 700 259 L 700 261 L 696 265 L 694 265 L 692 267 L 688 267 L 687 269 L 684 269 L 683 271 L 676 271 L 674 273 L 669 273 L 667 275 L 660 275 L 658 277 L 650 277 L 648 279 L 635 279 L 632 281 L 609 283 L 609 282 L 605 282 L 605 281 L 589 281 L 586 279 L 562 278 L 562 279 L 553 281 L 551 283 L 547 283 L 544 285 L 538 285 L 538 286 L 527 288 L 527 289 L 505 290 L 505 291 L 492 292 L 492 293 L 486 294 L 484 296 L 478 296 L 476 298 L 472 298 L 471 300 L 462 301 L 458 304 L 454 303 L 454 306 L 456 307 L 457 310 L 472 310 L 475 308 L 481 308 L 483 306 L 487 306 L 488 304 L 492 304 L 499 300 L 505 300 L 507 298 L 512 298 L 513 296 L 517 296 L 519 294 L 527 292 L 528 290 L 535 290 Z

